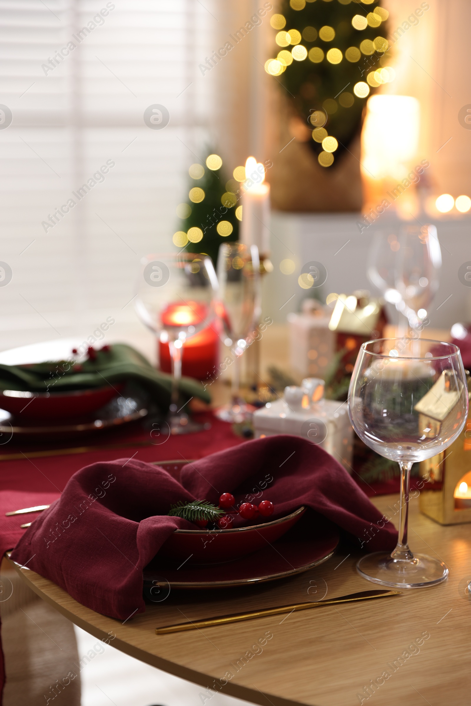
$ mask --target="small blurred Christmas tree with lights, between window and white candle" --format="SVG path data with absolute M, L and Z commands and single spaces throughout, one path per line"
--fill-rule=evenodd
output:
M 239 239 L 242 220 L 239 182 L 245 179 L 245 170 L 242 174 L 240 169 L 234 169 L 234 176 L 240 179 L 226 181 L 219 155 L 208 155 L 205 167 L 191 164 L 188 201 L 177 206 L 181 229 L 174 234 L 174 245 L 186 247 L 190 253 L 205 253 L 216 264 L 220 244 Z

